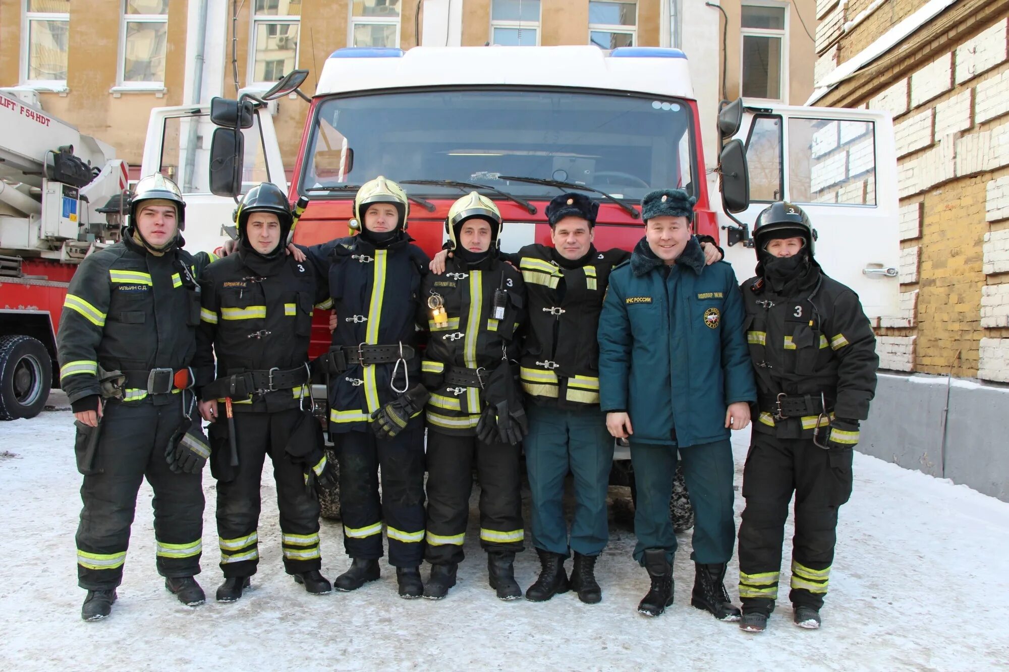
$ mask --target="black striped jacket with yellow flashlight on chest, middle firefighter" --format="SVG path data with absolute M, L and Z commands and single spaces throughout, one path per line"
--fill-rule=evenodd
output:
M 495 320 L 493 300 L 498 289 L 507 292 L 508 302 L 504 317 Z M 439 325 L 431 316 L 427 301 L 433 295 L 444 302 L 447 324 Z M 424 386 L 431 391 L 426 413 L 430 429 L 475 436 L 485 403 L 482 389 L 446 375 L 453 370 L 477 371 L 485 380 L 502 358 L 518 358 L 516 332 L 525 319 L 525 302 L 520 272 L 493 255 L 473 265 L 458 256 L 449 258 L 445 272 L 424 277 L 418 322 L 426 324 L 431 334 L 421 365 Z

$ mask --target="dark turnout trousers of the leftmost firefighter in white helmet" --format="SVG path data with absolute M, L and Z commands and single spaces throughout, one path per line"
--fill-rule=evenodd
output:
M 78 585 L 109 590 L 122 582 L 130 525 L 140 482 L 154 490 L 157 573 L 165 577 L 200 573 L 203 550 L 203 474 L 174 473 L 164 459 L 169 440 L 183 420 L 182 400 L 105 405 L 98 441 L 101 473 L 84 477 L 77 529 Z M 158 400 L 160 401 L 160 400 Z

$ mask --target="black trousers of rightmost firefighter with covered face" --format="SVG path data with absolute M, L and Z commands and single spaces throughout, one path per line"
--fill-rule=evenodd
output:
M 789 599 L 823 605 L 833 563 L 837 508 L 852 494 L 851 448 L 824 450 L 809 439 L 754 432 L 743 470 L 747 506 L 740 525 L 740 598 L 746 611 L 770 613 L 778 597 L 788 503 L 795 493 Z

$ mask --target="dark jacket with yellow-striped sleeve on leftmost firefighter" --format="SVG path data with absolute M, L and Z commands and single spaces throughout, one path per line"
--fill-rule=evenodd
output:
M 180 238 L 176 248 L 158 256 L 127 236 L 78 266 L 57 338 L 60 384 L 71 404 L 101 395 L 99 366 L 106 371 L 190 366 L 200 324 L 197 277 L 217 257 L 190 254 L 183 244 Z M 136 384 L 122 389 L 128 404 L 173 399 L 178 397 L 148 395 Z

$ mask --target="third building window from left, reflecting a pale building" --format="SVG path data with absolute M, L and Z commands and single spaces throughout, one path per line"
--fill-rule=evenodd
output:
M 255 0 L 250 86 L 272 86 L 298 67 L 302 0 Z

